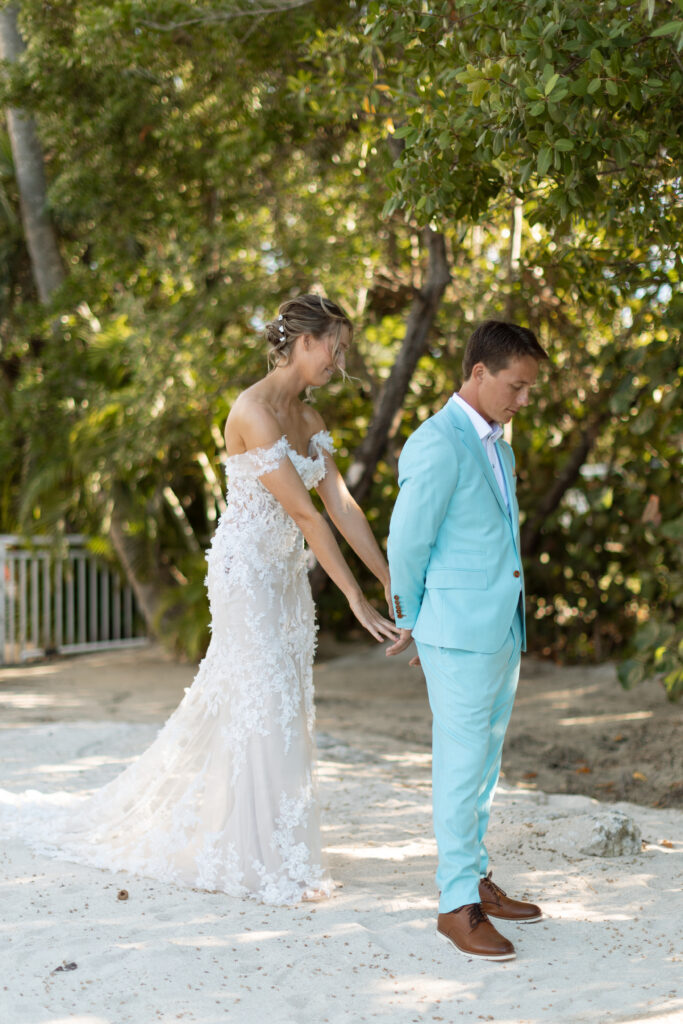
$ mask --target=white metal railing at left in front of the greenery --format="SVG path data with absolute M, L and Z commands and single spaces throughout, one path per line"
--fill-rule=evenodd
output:
M 146 642 L 131 588 L 87 538 L 0 534 L 0 665 Z

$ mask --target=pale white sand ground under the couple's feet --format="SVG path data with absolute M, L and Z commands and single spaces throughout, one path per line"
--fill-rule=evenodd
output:
M 156 729 L 14 721 L 0 729 L 2 784 L 90 790 Z M 325 838 L 342 887 L 294 909 L 49 860 L 3 839 L 0 1024 L 680 1024 L 683 813 L 502 786 L 495 877 L 547 918 L 501 926 L 516 961 L 473 962 L 434 935 L 429 769 L 423 749 L 322 736 Z M 642 829 L 643 851 L 581 854 L 587 816 L 614 806 Z

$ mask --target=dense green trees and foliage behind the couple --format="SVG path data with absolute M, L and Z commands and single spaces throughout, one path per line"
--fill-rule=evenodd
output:
M 98 539 L 199 653 L 259 325 L 311 289 L 351 312 L 353 379 L 315 397 L 346 470 L 436 240 L 450 284 L 362 499 L 378 537 L 472 326 L 529 325 L 551 355 L 514 424 L 530 645 L 680 693 L 681 0 L 11 7 L 0 105 L 37 128 L 63 283 L 38 301 L 2 131 L 0 531 Z M 350 625 L 332 588 L 319 610 Z

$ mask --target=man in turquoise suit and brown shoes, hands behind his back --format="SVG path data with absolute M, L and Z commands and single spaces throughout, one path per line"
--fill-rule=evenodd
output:
M 417 642 L 432 728 L 438 934 L 460 952 L 512 959 L 488 920 L 541 910 L 492 880 L 484 845 L 525 649 L 524 581 L 512 449 L 502 424 L 530 400 L 548 356 L 527 328 L 486 321 L 470 337 L 464 383 L 409 438 L 388 556 L 397 654 Z

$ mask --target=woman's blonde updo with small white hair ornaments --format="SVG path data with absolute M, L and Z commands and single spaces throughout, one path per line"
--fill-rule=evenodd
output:
M 353 325 L 341 306 L 322 295 L 297 295 L 283 302 L 278 316 L 265 325 L 266 341 L 270 345 L 268 367 L 284 367 L 290 360 L 294 342 L 302 334 L 313 338 L 333 337 L 332 356 L 337 361 L 344 331 L 349 342 Z

